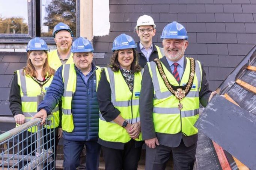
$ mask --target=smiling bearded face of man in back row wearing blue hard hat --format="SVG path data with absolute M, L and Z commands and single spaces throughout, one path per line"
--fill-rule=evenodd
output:
M 66 30 L 61 30 L 56 33 L 54 41 L 58 51 L 69 52 L 72 44 L 71 34 Z

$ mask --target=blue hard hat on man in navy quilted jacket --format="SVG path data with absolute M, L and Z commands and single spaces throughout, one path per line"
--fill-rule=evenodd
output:
M 75 41 L 73 41 L 71 46 L 71 52 L 72 53 L 93 52 L 93 47 L 89 40 L 83 37 L 79 37 Z

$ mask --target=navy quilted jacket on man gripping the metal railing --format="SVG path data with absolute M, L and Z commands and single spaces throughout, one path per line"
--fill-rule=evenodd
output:
M 99 130 L 99 106 L 96 95 L 96 73 L 97 69 L 92 64 L 92 74 L 90 75 L 87 83 L 84 82 L 77 73 L 76 91 L 72 98 L 72 114 L 74 122 L 74 130 L 71 133 L 63 133 L 63 138 L 72 141 L 88 141 L 98 140 Z M 51 113 L 54 106 L 61 100 L 64 92 L 64 84 L 62 79 L 62 66 L 57 69 L 50 87 L 44 100 L 38 106 L 38 111 L 44 108 L 47 114 Z

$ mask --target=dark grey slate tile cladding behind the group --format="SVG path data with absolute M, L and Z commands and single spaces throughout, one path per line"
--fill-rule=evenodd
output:
M 96 64 L 106 65 L 114 38 L 134 31 L 141 15 L 157 25 L 153 42 L 161 46 L 161 31 L 178 21 L 187 29 L 185 56 L 204 64 L 210 89 L 215 90 L 256 43 L 256 0 L 110 0 L 110 33 L 96 37 L 95 52 L 105 52 Z

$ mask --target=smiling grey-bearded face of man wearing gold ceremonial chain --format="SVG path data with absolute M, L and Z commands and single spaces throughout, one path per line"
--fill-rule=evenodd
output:
M 173 62 L 179 61 L 187 49 L 188 41 L 181 39 L 164 39 L 163 47 L 165 56 Z

